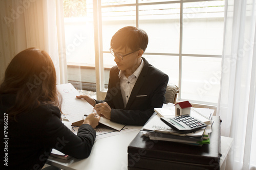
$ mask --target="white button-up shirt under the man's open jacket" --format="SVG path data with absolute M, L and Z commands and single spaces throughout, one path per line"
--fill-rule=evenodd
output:
M 126 107 L 127 102 L 129 101 L 131 92 L 133 90 L 133 87 L 140 75 L 140 72 L 144 66 L 144 61 L 141 59 L 140 66 L 134 71 L 134 73 L 126 78 L 126 76 L 123 74 L 123 71 L 119 71 L 119 79 L 120 79 L 120 88 L 123 98 L 123 104 L 124 108 Z

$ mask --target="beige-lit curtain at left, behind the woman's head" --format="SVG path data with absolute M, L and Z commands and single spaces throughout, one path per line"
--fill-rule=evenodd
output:
M 67 83 L 62 0 L 1 1 L 1 74 L 20 51 L 37 47 L 54 63 L 57 84 Z

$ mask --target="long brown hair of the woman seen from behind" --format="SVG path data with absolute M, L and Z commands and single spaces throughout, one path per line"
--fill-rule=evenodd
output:
M 37 48 L 18 53 L 8 65 L 0 94 L 15 94 L 8 118 L 40 105 L 61 106 L 56 88 L 56 71 L 50 56 Z

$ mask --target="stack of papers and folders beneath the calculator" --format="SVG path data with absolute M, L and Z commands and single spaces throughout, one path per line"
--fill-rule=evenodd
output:
M 150 120 L 144 125 L 142 130 L 143 135 L 151 140 L 165 140 L 180 142 L 192 145 L 202 146 L 203 144 L 210 143 L 209 135 L 211 133 L 211 121 L 214 110 L 205 108 L 191 108 L 191 116 L 200 119 L 205 124 L 206 128 L 202 128 L 193 133 L 180 133 L 162 122 L 161 117 L 174 117 L 175 106 L 174 104 L 164 105 L 163 108 L 155 108 L 157 114 L 153 115 Z

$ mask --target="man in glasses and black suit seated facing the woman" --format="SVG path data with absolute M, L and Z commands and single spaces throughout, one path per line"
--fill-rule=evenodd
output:
M 103 101 L 89 96 L 87 100 L 100 116 L 126 125 L 144 125 L 154 108 L 165 103 L 168 76 L 142 57 L 146 50 L 146 32 L 136 27 L 124 27 L 111 39 L 110 52 L 116 66 L 110 70 L 108 92 Z

